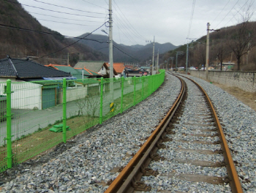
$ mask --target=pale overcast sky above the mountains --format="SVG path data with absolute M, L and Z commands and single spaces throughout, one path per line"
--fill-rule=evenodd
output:
M 109 0 L 18 0 L 34 18 L 61 34 L 77 37 L 108 21 Z M 254 0 L 112 0 L 113 39 L 124 45 L 146 41 L 183 45 L 210 29 L 233 26 Z M 256 20 L 255 15 L 252 20 Z M 108 32 L 108 23 L 94 32 Z

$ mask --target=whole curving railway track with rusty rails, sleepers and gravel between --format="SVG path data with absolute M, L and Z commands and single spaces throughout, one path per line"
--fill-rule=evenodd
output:
M 210 99 L 193 80 L 179 78 L 173 107 L 105 192 L 181 192 L 181 184 L 185 192 L 243 192 Z

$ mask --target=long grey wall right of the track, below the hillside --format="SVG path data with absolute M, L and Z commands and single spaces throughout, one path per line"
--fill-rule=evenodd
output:
M 206 80 L 205 71 L 190 70 L 189 73 Z M 256 72 L 208 71 L 208 80 L 227 86 L 236 86 L 243 91 L 256 92 Z

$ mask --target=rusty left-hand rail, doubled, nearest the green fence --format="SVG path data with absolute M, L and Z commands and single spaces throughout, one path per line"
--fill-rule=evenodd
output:
M 146 140 L 146 143 L 143 144 L 143 146 L 135 154 L 135 156 L 132 157 L 127 166 L 124 167 L 121 173 L 110 184 L 105 193 L 133 192 L 134 188 L 132 187 L 132 183 L 138 180 L 138 178 L 136 178 L 135 176 L 140 173 L 140 168 L 143 167 L 143 164 L 146 162 L 146 160 L 148 158 L 150 159 L 151 151 L 157 146 L 157 140 L 159 140 L 163 132 L 165 132 L 165 127 L 167 126 L 167 124 L 169 124 L 170 119 L 173 117 L 174 113 L 176 113 L 178 105 L 183 99 L 185 93 L 185 85 L 184 80 L 182 80 L 181 78 L 179 79 L 181 80 L 181 91 L 176 99 L 176 102 L 173 104 L 173 107 L 170 108 L 165 118 L 163 118 L 160 122 L 159 126 L 157 126 L 157 128 L 150 135 L 150 137 L 148 137 L 148 140 Z

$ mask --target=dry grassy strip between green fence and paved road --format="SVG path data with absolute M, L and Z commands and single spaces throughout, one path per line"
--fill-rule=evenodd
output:
M 78 116 L 67 120 L 67 126 L 71 130 L 67 131 L 67 140 L 86 130 L 93 124 L 97 124 L 98 118 L 86 116 Z M 88 123 L 88 124 L 85 124 Z M 15 163 L 23 162 L 33 156 L 52 148 L 63 141 L 62 132 L 50 132 L 52 126 L 47 126 L 39 132 L 34 132 L 19 140 L 12 142 L 12 158 Z M 7 156 L 6 146 L 0 147 L 0 169 L 6 165 L 5 158 Z

